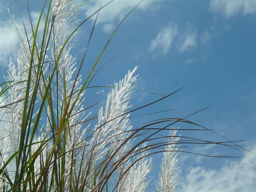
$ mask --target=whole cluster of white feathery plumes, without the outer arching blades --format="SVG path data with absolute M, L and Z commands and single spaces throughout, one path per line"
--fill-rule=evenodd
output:
M 104 107 L 98 110 L 97 124 L 93 125 L 95 116 L 87 109 L 83 102 L 86 101 L 84 96 L 85 89 L 82 85 L 81 76 L 75 81 L 76 76 L 76 57 L 71 54 L 75 47 L 76 41 L 72 43 L 74 33 L 69 39 L 68 44 L 61 49 L 70 35 L 75 29 L 79 20 L 74 17 L 77 14 L 76 0 L 55 0 L 52 3 L 52 13 L 54 28 L 52 35 L 52 44 L 43 50 L 45 60 L 42 67 L 42 74 L 37 90 L 37 99 L 35 106 L 40 106 L 44 95 L 51 94 L 52 100 L 47 101 L 44 108 L 44 114 L 40 116 L 40 127 L 36 130 L 35 136 L 32 138 L 34 145 L 29 155 L 36 153 L 41 143 L 44 147 L 40 149 L 40 155 L 36 157 L 33 173 L 35 181 L 39 179 L 39 175 L 45 166 L 46 159 L 55 161 L 54 166 L 58 166 L 61 170 L 53 173 L 53 168 L 49 170 L 46 185 L 51 186 L 51 190 L 58 190 L 61 185 L 64 191 L 99 191 L 102 183 L 107 180 L 112 186 L 116 187 L 118 192 L 144 192 L 150 187 L 151 177 L 150 172 L 153 169 L 152 158 L 148 155 L 150 151 L 147 148 L 147 143 L 143 143 L 140 147 L 134 148 L 131 153 L 131 148 L 134 146 L 135 137 L 131 134 L 132 126 L 129 120 L 131 109 L 129 100 L 131 99 L 131 89 L 134 87 L 134 82 L 137 76 L 134 73 L 137 68 L 128 71 L 124 79 L 118 83 L 114 83 L 113 89 L 107 95 Z M 8 108 L 2 110 L 3 130 L 0 133 L 0 167 L 2 168 L 9 157 L 19 150 L 20 142 L 20 125 L 23 118 L 24 102 L 26 95 L 26 85 L 29 74 L 29 65 L 31 61 L 31 47 L 34 43 L 32 35 L 26 37 L 20 30 L 14 18 L 11 17 L 14 23 L 17 35 L 20 38 L 20 49 L 17 53 L 17 64 L 9 60 L 9 75 L 6 81 L 9 81 L 8 87 L 3 94 L 4 101 L 1 105 L 9 105 Z M 38 48 L 39 52 L 41 51 Z M 61 54 L 60 54 L 61 53 Z M 50 56 L 48 56 L 48 55 Z M 58 57 L 58 55 L 61 55 Z M 54 71 L 54 81 L 51 83 L 51 91 L 46 92 L 46 85 L 49 83 L 49 76 L 52 72 L 51 66 L 55 65 L 58 60 L 57 67 Z M 33 68 L 31 73 L 30 92 L 33 91 L 36 76 L 38 75 L 38 57 L 33 55 Z M 74 90 L 73 90 L 73 85 Z M 70 105 L 68 112 L 72 108 L 72 113 L 68 116 L 65 128 L 61 133 L 61 150 L 58 151 L 59 158 L 56 160 L 50 157 L 54 143 L 54 135 L 56 136 L 55 128 L 61 122 L 64 110 L 67 107 L 67 101 L 70 97 Z M 80 90 L 81 93 L 79 92 Z M 76 100 L 78 98 L 78 100 Z M 38 111 L 35 107 L 32 119 L 37 116 Z M 123 115 L 125 113 L 125 115 Z M 32 121 L 33 122 L 33 121 Z M 54 127 L 56 125 L 56 127 Z M 92 128 L 94 126 L 94 128 Z M 28 127 L 28 128 L 32 128 Z M 173 137 L 176 131 L 170 132 L 169 145 L 164 152 L 163 163 L 159 173 L 159 182 L 156 183 L 157 189 L 163 192 L 173 192 L 176 189 L 179 180 L 176 178 L 177 171 L 177 149 L 174 146 L 178 141 L 178 137 Z M 29 137 L 29 135 L 26 135 Z M 175 138 L 175 139 L 174 139 Z M 47 142 L 45 142 L 47 141 Z M 64 158 L 62 158 L 62 156 Z M 29 156 L 30 157 L 30 156 Z M 17 157 L 12 160 L 12 167 L 6 166 L 5 171 L 0 177 L 0 191 L 7 189 L 5 175 L 13 180 L 14 174 L 9 170 L 15 170 Z M 104 171 L 102 169 L 105 168 Z M 113 174 L 110 174 L 110 173 Z M 24 176 L 26 178 L 26 174 Z M 51 180 L 52 179 L 52 180 Z M 53 184 L 52 184 L 53 183 Z M 100 184 L 99 184 L 100 183 Z M 103 184 L 103 188 L 109 184 Z M 115 184 L 118 183 L 118 184 Z M 26 186 L 29 190 L 30 185 Z

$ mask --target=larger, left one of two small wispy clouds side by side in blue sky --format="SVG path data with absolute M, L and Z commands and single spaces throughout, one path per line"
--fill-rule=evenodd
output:
M 157 36 L 151 40 L 151 44 L 149 46 L 149 50 L 151 52 L 163 52 L 166 55 L 172 45 L 174 38 L 177 36 L 177 24 L 169 23 L 164 26 L 160 32 L 158 32 Z

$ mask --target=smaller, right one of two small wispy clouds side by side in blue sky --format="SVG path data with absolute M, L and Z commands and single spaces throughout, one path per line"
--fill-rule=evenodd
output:
M 192 23 L 186 23 L 186 31 L 182 35 L 183 43 L 180 45 L 179 51 L 184 52 L 191 50 L 197 46 L 197 30 Z

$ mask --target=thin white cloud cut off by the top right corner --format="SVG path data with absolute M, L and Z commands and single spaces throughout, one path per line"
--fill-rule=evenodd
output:
M 256 0 L 211 0 L 210 11 L 221 12 L 226 18 L 242 12 L 243 15 L 256 13 Z

